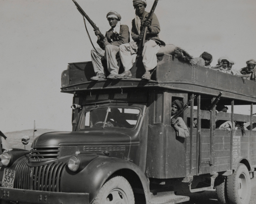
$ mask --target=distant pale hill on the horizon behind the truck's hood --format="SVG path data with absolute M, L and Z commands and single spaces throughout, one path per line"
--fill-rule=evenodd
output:
M 35 137 L 48 132 L 56 132 L 59 130 L 51 130 L 51 129 L 37 129 L 35 132 Z M 33 129 L 30 130 L 20 130 L 14 132 L 4 133 L 7 137 L 7 141 L 10 144 L 10 148 L 21 148 L 24 149 L 24 144 L 21 143 L 21 139 L 23 136 L 29 136 L 29 144 L 26 145 L 26 150 L 31 149 L 31 144 L 33 141 Z

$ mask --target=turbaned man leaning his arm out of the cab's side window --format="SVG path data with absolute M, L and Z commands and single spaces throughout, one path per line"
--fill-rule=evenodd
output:
M 174 116 L 180 108 L 183 107 L 183 102 L 180 100 L 176 99 L 172 102 L 172 116 Z M 171 125 L 174 127 L 177 136 L 186 138 L 189 136 L 189 130 L 188 127 L 186 126 L 185 122 L 181 117 L 177 117 L 177 119 L 172 118 L 171 120 Z

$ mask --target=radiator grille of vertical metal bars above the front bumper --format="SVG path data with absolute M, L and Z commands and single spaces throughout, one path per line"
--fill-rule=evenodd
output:
M 15 168 L 14 188 L 61 192 L 61 174 L 66 163 L 54 162 L 44 166 L 29 167 L 21 160 Z

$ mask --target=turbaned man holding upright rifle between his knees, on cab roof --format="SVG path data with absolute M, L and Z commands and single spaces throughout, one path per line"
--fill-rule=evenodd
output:
M 147 6 L 146 0 L 133 0 L 133 6 L 135 8 L 135 18 L 132 20 L 131 37 L 134 42 L 120 46 L 119 53 L 125 71 L 117 75 L 116 78 L 131 78 L 130 69 L 136 61 L 138 45 L 140 41 L 143 40 L 141 31 L 145 24 L 145 26 L 148 27 L 148 31 L 142 52 L 143 65 L 145 68 L 145 74 L 142 78 L 149 80 L 151 77 L 150 71 L 157 66 L 156 54 L 160 49 L 160 45 L 165 45 L 165 43 L 158 37 L 160 25 L 157 16 L 153 14 L 152 19 L 145 22 L 148 14 L 148 12 L 145 11 L 145 7 Z

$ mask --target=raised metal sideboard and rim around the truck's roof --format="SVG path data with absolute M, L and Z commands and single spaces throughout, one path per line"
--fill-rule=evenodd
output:
M 104 79 L 92 81 L 95 76 L 91 62 L 69 63 L 61 75 L 61 92 L 96 91 L 120 88 L 164 88 L 195 94 L 241 99 L 256 103 L 256 83 L 231 74 L 201 67 L 191 62 L 181 62 L 169 54 L 157 54 L 158 64 L 151 80 L 141 79 L 145 73 L 141 57 L 131 68 L 131 79 Z M 122 69 L 122 66 L 120 67 Z M 119 72 L 122 73 L 122 70 Z

